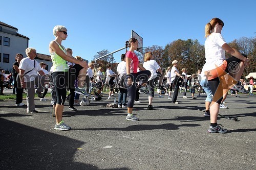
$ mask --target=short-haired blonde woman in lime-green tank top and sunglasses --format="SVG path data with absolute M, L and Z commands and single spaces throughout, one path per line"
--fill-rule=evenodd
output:
M 69 130 L 71 127 L 64 124 L 62 121 L 62 113 L 64 102 L 66 99 L 67 90 L 65 88 L 65 82 L 67 82 L 68 77 L 68 65 L 67 61 L 79 64 L 83 67 L 79 71 L 78 80 L 82 79 L 86 75 L 86 70 L 88 68 L 88 63 L 85 61 L 79 61 L 76 58 L 67 55 L 65 47 L 61 45 L 62 40 L 66 40 L 68 37 L 67 29 L 64 26 L 55 26 L 53 28 L 53 35 L 55 36 L 55 40 L 51 41 L 49 44 L 49 52 L 51 54 L 52 62 L 53 62 L 53 79 L 55 84 L 56 96 L 57 96 L 57 104 L 55 107 L 55 115 L 56 115 L 56 124 L 55 130 Z M 84 78 L 83 78 L 84 79 Z M 61 82 L 62 81 L 62 82 Z M 79 88 L 83 88 L 82 81 L 78 84 Z M 64 84 L 64 85 L 63 85 Z

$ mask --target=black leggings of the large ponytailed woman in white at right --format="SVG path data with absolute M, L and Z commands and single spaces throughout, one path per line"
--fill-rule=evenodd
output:
M 240 59 L 236 57 L 230 57 L 226 59 L 226 61 L 227 61 L 227 67 L 225 69 L 226 73 L 229 73 L 229 72 L 236 73 L 236 71 L 240 69 L 240 62 L 241 62 Z M 214 96 L 212 101 L 218 104 L 221 104 L 221 101 L 223 99 L 223 87 L 222 87 L 222 83 L 220 83 L 219 77 L 212 80 L 208 80 L 208 83 L 210 85 L 211 94 Z

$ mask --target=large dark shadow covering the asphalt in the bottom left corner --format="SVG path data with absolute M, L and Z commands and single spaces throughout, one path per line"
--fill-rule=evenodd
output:
M 0 169 L 101 169 L 72 161 L 84 142 L 3 118 L 0 125 Z M 129 170 L 126 167 L 111 169 Z

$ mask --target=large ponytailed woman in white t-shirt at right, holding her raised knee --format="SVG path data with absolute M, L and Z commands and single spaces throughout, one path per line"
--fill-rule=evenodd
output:
M 236 85 L 248 63 L 245 55 L 230 47 L 221 35 L 224 22 L 219 18 L 212 18 L 205 26 L 205 64 L 202 74 L 208 80 L 213 99 L 210 106 L 210 133 L 227 133 L 226 129 L 217 124 L 217 116 L 222 101 L 223 89 Z M 225 59 L 225 52 L 233 57 Z M 224 75 L 229 73 L 229 78 Z M 232 76 L 232 77 L 231 77 Z M 203 79 L 203 78 L 202 78 Z M 204 83 L 206 84 L 207 81 Z

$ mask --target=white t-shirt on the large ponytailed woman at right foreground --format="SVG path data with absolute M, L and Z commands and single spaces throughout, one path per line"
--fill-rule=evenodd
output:
M 222 45 L 225 40 L 220 33 L 211 33 L 204 42 L 205 50 L 205 70 L 212 70 L 217 66 L 221 66 L 225 60 L 225 50 Z

